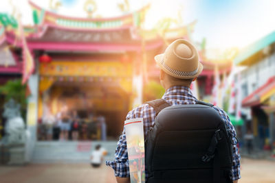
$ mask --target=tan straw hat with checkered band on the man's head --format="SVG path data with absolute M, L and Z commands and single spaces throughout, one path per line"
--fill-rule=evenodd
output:
M 168 75 L 180 79 L 195 78 L 203 69 L 197 49 L 184 39 L 172 42 L 164 53 L 155 56 L 155 61 Z

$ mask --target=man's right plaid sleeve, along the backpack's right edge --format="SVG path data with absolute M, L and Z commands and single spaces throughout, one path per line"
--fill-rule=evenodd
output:
M 228 128 L 228 132 L 232 136 L 232 180 L 238 180 L 241 178 L 241 155 L 239 154 L 239 149 L 236 147 L 238 141 L 236 139 L 236 131 L 234 129 L 234 126 L 232 125 L 228 114 L 226 114 L 223 110 L 218 108 L 217 106 L 214 106 L 214 109 L 217 110 L 222 117 L 223 121 L 225 122 L 226 127 Z

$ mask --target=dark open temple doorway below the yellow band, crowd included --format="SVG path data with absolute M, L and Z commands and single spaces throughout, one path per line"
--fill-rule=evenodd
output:
M 119 82 L 103 80 L 57 80 L 39 98 L 38 138 L 41 141 L 76 140 L 75 133 L 79 141 L 115 139 L 122 131 L 130 104 L 129 93 Z M 79 119 L 78 130 L 74 130 L 74 113 Z M 63 124 L 69 126 L 66 139 L 61 134 Z

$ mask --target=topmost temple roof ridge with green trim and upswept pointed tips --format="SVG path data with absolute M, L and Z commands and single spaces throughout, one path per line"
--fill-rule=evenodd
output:
M 150 4 L 144 6 L 144 8 L 137 10 L 131 14 L 124 16 L 117 16 L 111 18 L 77 18 L 70 16 L 63 16 L 44 10 L 32 1 L 29 1 L 32 9 L 38 14 L 38 25 L 51 24 L 61 27 L 71 27 L 73 29 L 113 29 L 121 27 L 135 27 L 138 26 L 140 21 L 143 21 L 146 10 L 150 7 Z

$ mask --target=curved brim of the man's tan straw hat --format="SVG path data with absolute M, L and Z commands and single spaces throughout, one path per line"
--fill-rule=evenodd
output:
M 201 64 L 201 62 L 199 62 L 198 71 L 196 75 L 190 75 L 190 76 L 175 75 L 174 73 L 171 73 L 170 71 L 168 71 L 168 69 L 164 67 L 164 65 L 162 64 L 163 59 L 164 59 L 164 53 L 155 56 L 155 62 L 157 62 L 157 65 L 159 66 L 159 68 L 162 69 L 162 71 L 164 71 L 168 75 L 172 75 L 173 77 L 177 77 L 179 79 L 192 79 L 192 78 L 198 77 L 201 71 L 203 70 L 203 65 Z

